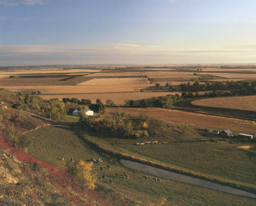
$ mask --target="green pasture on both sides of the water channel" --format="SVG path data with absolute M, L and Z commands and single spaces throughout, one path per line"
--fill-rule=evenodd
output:
M 95 163 L 96 170 L 93 170 L 93 172 L 98 173 L 96 190 L 110 194 L 123 194 L 124 198 L 130 200 L 129 205 L 148 205 L 147 201 L 157 202 L 162 196 L 168 197 L 167 205 L 255 205 L 255 199 L 252 198 L 240 197 L 165 179 L 162 179 L 161 183 L 156 183 L 153 182 L 153 176 L 150 175 L 146 175 L 149 178 L 148 181 L 143 180 L 143 175 L 145 174 L 124 168 L 116 160 L 110 159 L 102 153 L 97 153 L 94 147 L 82 142 L 77 135 L 78 131 L 81 132 L 81 128 L 75 123 L 65 122 L 31 132 L 28 134 L 31 140 L 28 152 L 35 158 L 61 167 L 65 165 L 61 161 L 62 157 L 67 161 L 71 157 L 74 160 L 81 159 L 83 161 L 100 157 L 103 159 L 103 163 Z M 213 170 L 214 166 L 211 164 L 217 161 L 218 168 L 214 175 L 217 173 L 216 176 L 219 177 L 222 175 L 221 173 L 218 174 L 218 171 L 222 167 L 227 172 L 232 170 L 232 168 L 229 168 L 229 165 L 225 166 L 225 163 L 231 161 L 230 158 L 233 156 L 233 162 L 241 163 L 245 160 L 246 162 L 242 166 L 237 167 L 237 171 L 234 169 L 236 167 L 234 167 L 232 177 L 228 177 L 232 179 L 233 176 L 237 176 L 237 178 L 240 178 L 238 179 L 239 181 L 251 182 L 253 184 L 255 181 L 253 180 L 253 173 L 251 174 L 250 181 L 245 180 L 249 172 L 244 175 L 247 169 L 251 170 L 252 166 L 249 165 L 254 161 L 248 157 L 247 152 L 250 151 L 252 154 L 255 154 L 254 150 L 245 152 L 232 149 L 233 145 L 227 143 L 173 143 L 167 145 L 135 146 L 134 140 L 118 140 L 112 145 L 110 144 L 113 141 L 112 139 L 99 139 L 88 135 L 86 130 L 83 132 L 86 133 L 87 138 L 94 140 L 103 147 L 116 149 L 128 153 L 128 155 L 155 160 L 156 162 L 164 162 L 167 165 L 178 165 L 180 168 L 189 168 L 190 170 L 202 173 L 212 174 L 210 171 Z M 214 144 L 215 146 L 213 146 Z M 202 152 L 202 150 L 207 152 Z M 225 157 L 228 153 L 230 155 Z M 227 161 L 225 161 L 225 158 L 227 158 Z M 206 164 L 206 161 L 212 162 Z M 110 170 L 107 168 L 107 165 L 110 165 Z M 248 166 L 245 167 L 246 165 Z M 103 167 L 102 171 L 99 169 L 100 166 Z M 208 169 L 207 167 L 209 166 L 210 168 Z M 242 170 L 242 168 L 244 169 Z M 129 179 L 124 178 L 124 171 L 129 175 Z M 115 173 L 119 173 L 121 176 L 117 178 Z M 239 173 L 241 174 L 237 175 Z M 223 172 L 223 174 L 225 173 Z M 104 180 L 100 180 L 102 175 L 106 175 Z M 110 179 L 113 180 L 113 185 L 109 184 Z

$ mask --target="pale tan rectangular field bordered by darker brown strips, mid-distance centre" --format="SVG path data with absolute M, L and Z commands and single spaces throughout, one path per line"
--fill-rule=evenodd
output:
M 122 85 L 122 84 L 149 84 L 147 78 L 102 78 L 92 79 L 77 85 Z

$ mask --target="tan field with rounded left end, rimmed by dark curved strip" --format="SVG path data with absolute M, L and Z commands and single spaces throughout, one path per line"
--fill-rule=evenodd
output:
M 192 105 L 256 111 L 256 96 L 209 98 L 191 101 Z

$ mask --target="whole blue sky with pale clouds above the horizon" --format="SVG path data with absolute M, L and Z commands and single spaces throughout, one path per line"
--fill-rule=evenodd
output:
M 256 63 L 255 0 L 0 0 L 0 66 Z

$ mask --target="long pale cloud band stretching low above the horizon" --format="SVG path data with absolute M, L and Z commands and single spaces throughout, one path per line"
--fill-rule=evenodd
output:
M 171 49 L 132 44 L 0 45 L 0 65 L 256 63 L 256 45 Z

